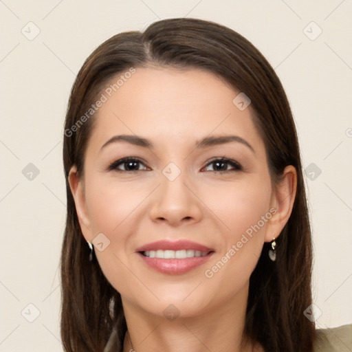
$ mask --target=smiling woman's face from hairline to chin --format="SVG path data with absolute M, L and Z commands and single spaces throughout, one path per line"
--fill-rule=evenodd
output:
M 245 299 L 276 206 L 249 101 L 213 74 L 165 67 L 102 93 L 74 196 L 124 305 L 194 316 Z

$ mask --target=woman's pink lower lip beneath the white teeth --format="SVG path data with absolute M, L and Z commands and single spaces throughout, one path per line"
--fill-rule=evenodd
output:
M 192 258 L 185 259 L 162 259 L 162 258 L 150 258 L 144 256 L 142 253 L 137 253 L 140 255 L 144 263 L 149 265 L 157 272 L 163 274 L 177 275 L 190 272 L 190 270 L 199 267 L 200 265 L 206 263 L 214 252 L 210 252 L 206 256 L 193 256 Z

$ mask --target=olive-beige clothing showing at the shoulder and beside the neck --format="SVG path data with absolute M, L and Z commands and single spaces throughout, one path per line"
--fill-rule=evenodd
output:
M 341 327 L 318 329 L 314 352 L 352 352 L 352 324 Z M 117 334 L 115 329 L 104 352 L 115 352 Z

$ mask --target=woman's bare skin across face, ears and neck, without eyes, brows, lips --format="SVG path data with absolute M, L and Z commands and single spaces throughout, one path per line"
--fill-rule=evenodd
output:
M 136 68 L 96 115 L 84 177 L 78 178 L 74 166 L 69 173 L 85 239 L 91 243 L 102 232 L 110 241 L 95 253 L 122 296 L 132 342 L 125 337 L 124 352 L 132 346 L 137 352 L 240 351 L 250 274 L 263 243 L 277 238 L 289 219 L 296 170 L 287 166 L 283 181 L 272 187 L 251 106 L 240 111 L 232 103 L 237 94 L 200 69 Z M 154 146 L 115 142 L 102 148 L 113 135 L 139 135 Z M 238 135 L 255 153 L 240 142 L 196 148 L 197 141 L 215 135 Z M 139 170 L 128 171 L 122 163 L 120 172 L 107 171 L 111 163 L 129 156 L 142 159 L 134 166 Z M 225 164 L 227 171 L 215 172 L 217 165 L 209 162 L 214 157 L 235 160 L 243 170 Z M 173 181 L 162 173 L 170 162 L 181 170 Z M 276 214 L 207 278 L 205 270 L 270 208 Z M 135 253 L 160 239 L 188 239 L 215 253 L 186 274 L 162 274 Z M 179 314 L 173 321 L 163 314 L 171 304 Z M 241 349 L 252 350 L 261 347 L 249 344 Z

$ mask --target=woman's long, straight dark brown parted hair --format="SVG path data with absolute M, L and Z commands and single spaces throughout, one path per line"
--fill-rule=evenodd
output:
M 87 58 L 72 87 L 63 144 L 67 221 L 61 255 L 61 338 L 65 351 L 103 351 L 113 326 L 118 327 L 116 351 L 122 351 L 126 320 L 121 297 L 102 274 L 96 257 L 89 261 L 68 175 L 76 165 L 83 177 L 95 117 L 79 124 L 78 120 L 98 100 L 102 87 L 131 67 L 150 65 L 206 69 L 243 91 L 252 100 L 272 181 L 280 180 L 285 166 L 296 168 L 296 199 L 276 240 L 276 261 L 268 258 L 269 243 L 265 243 L 250 276 L 243 336 L 268 352 L 312 351 L 315 325 L 303 314 L 312 302 L 311 228 L 298 137 L 285 91 L 274 69 L 243 36 L 217 23 L 186 18 L 157 21 L 144 32 L 111 37 Z

